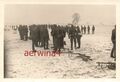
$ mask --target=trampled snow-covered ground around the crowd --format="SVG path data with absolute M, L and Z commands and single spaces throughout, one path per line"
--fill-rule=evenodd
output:
M 31 40 L 21 41 L 19 33 L 10 29 L 5 31 L 5 74 L 7 78 L 54 78 L 54 79 L 81 79 L 81 78 L 115 78 L 116 71 L 108 68 L 101 69 L 96 62 L 114 62 L 110 58 L 112 48 L 111 31 L 96 27 L 94 35 L 83 35 L 81 48 L 74 50 L 90 56 L 92 61 L 83 61 L 80 57 L 71 59 L 68 53 L 60 56 L 24 56 L 25 50 L 31 50 Z M 66 36 L 67 45 L 70 42 Z M 50 37 L 52 46 L 52 37 Z M 36 48 L 43 50 L 43 48 Z M 51 49 L 52 50 L 52 49 Z

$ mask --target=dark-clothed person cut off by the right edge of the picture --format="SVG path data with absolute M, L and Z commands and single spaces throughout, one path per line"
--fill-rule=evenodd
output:
M 111 40 L 112 40 L 112 43 L 113 43 L 113 48 L 112 48 L 112 51 L 111 51 L 111 57 L 115 58 L 116 57 L 116 25 L 115 25 L 115 28 L 112 30 Z

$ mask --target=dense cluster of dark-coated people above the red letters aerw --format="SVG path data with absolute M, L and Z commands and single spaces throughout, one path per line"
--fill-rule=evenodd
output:
M 30 25 L 30 39 L 32 40 L 32 50 L 35 50 L 36 47 L 44 47 L 48 49 L 49 33 L 47 25 Z

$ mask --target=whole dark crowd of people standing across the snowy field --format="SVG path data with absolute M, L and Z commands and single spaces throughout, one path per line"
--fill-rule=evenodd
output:
M 66 34 L 70 39 L 71 50 L 74 48 L 80 48 L 82 32 L 79 26 L 75 25 L 57 25 L 57 24 L 40 24 L 40 25 L 19 25 L 18 31 L 21 40 L 27 41 L 28 38 L 32 40 L 32 50 L 36 51 L 35 47 L 44 47 L 44 49 L 49 48 L 49 32 L 48 29 L 51 29 L 51 36 L 53 39 L 53 49 L 55 51 L 60 51 L 64 49 L 66 42 L 64 38 Z M 29 31 L 29 32 L 28 32 Z M 29 37 L 28 37 L 29 33 Z M 78 46 L 76 46 L 78 45 Z

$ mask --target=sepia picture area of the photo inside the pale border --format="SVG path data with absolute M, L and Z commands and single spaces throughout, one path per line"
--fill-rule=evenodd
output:
M 116 5 L 5 4 L 4 78 L 116 78 Z

